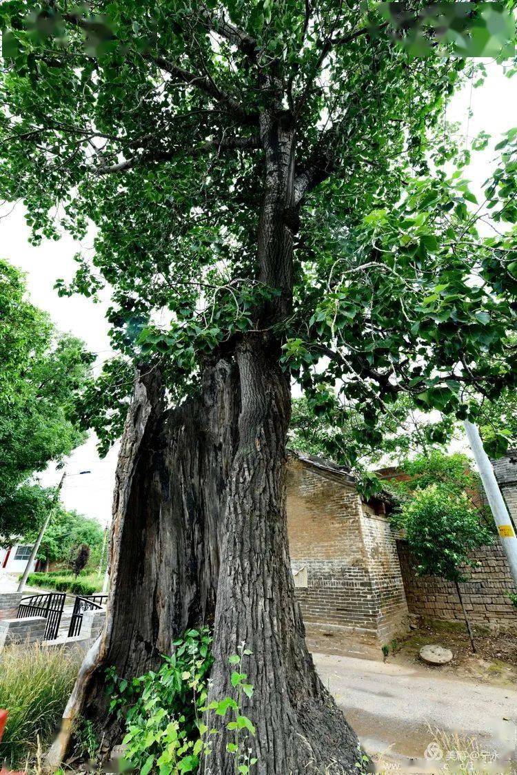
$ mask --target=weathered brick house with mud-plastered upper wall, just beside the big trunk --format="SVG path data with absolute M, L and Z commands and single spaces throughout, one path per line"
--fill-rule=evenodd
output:
M 408 608 L 395 537 L 361 501 L 355 480 L 325 461 L 291 454 L 288 532 L 305 622 L 337 625 L 386 642 L 406 629 Z M 295 577 L 296 578 L 296 577 Z

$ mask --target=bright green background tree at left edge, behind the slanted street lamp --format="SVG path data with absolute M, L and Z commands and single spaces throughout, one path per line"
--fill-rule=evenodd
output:
M 12 543 L 50 508 L 31 483 L 84 439 L 76 403 L 95 356 L 57 333 L 27 300 L 22 273 L 0 260 L 0 542 Z

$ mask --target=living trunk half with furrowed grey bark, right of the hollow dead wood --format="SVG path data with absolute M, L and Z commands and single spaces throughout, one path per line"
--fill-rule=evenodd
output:
M 239 347 L 242 409 L 239 446 L 229 474 L 215 611 L 212 687 L 209 700 L 236 696 L 229 656 L 245 643 L 244 657 L 254 691 L 241 711 L 257 729 L 243 750 L 253 749 L 259 775 L 357 773 L 357 737 L 315 673 L 288 553 L 285 503 L 285 438 L 290 416 L 288 378 L 259 337 Z M 205 773 L 236 772 L 227 750 L 235 732 L 232 717 L 212 715 Z M 243 741 L 241 730 L 240 741 Z

